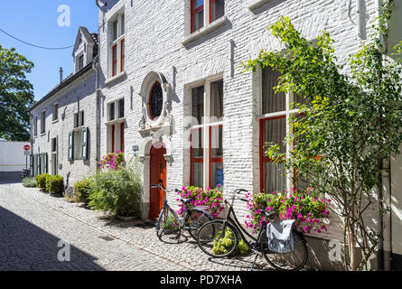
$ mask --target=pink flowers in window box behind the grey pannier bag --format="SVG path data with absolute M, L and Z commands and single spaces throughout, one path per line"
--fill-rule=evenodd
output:
M 294 194 L 293 192 L 287 195 L 281 193 L 256 193 L 251 195 L 248 192 L 248 210 L 251 214 L 246 216 L 247 228 L 253 228 L 257 232 L 262 228 L 263 224 L 269 220 L 263 215 L 261 210 L 274 210 L 278 214 L 280 220 L 295 219 L 295 224 L 304 233 L 310 233 L 312 230 L 321 233 L 327 231 L 323 224 L 323 219 L 328 218 L 330 212 L 326 209 L 326 204 L 331 200 L 325 200 L 314 196 L 311 193 L 312 189 L 308 188 L 304 194 Z M 286 191 L 288 192 L 288 191 Z

